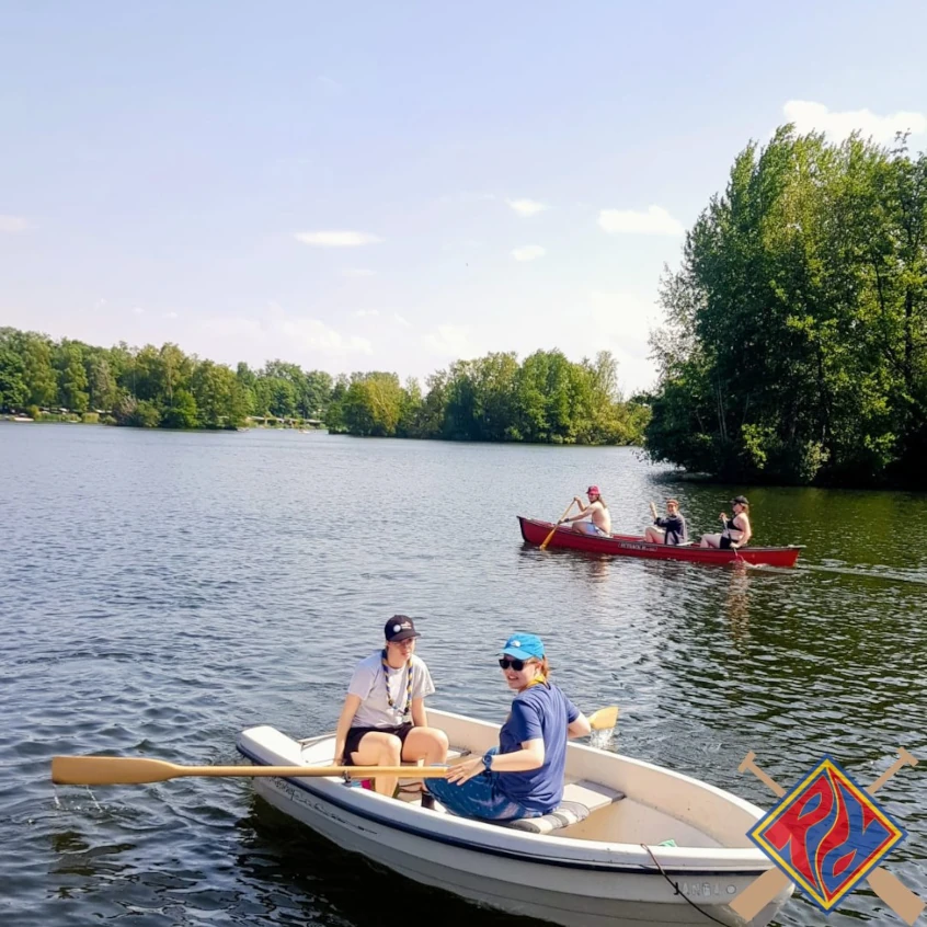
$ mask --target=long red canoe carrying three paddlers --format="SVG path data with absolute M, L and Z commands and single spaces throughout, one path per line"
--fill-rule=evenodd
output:
M 528 543 L 541 545 L 550 534 L 553 524 L 537 522 L 534 518 L 518 516 L 522 537 Z M 790 543 L 788 547 L 745 547 L 743 550 L 718 550 L 698 545 L 650 543 L 634 535 L 611 535 L 610 538 L 577 535 L 570 528 L 558 528 L 548 547 L 566 547 L 572 550 L 585 550 L 588 553 L 610 553 L 616 557 L 643 557 L 649 560 L 691 560 L 696 563 L 733 563 L 745 560 L 747 563 L 763 563 L 767 566 L 794 566 L 803 543 Z

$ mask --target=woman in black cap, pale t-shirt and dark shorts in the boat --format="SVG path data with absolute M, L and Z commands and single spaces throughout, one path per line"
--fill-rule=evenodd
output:
M 435 686 L 428 667 L 415 656 L 411 618 L 394 615 L 384 629 L 386 646 L 354 670 L 335 733 L 336 766 L 399 766 L 424 759 L 426 766 L 447 759 L 447 734 L 428 726 L 425 696 Z M 385 796 L 397 779 L 377 777 L 374 788 Z

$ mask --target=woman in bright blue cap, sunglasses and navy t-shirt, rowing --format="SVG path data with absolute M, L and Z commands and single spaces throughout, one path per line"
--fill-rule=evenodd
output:
M 516 693 L 499 746 L 454 766 L 428 791 L 454 814 L 491 821 L 540 817 L 563 798 L 566 741 L 590 733 L 590 722 L 550 682 L 537 634 L 513 634 L 499 665 Z

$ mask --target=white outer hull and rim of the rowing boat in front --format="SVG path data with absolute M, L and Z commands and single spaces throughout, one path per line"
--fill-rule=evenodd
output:
M 445 730 L 455 726 L 454 719 L 489 729 L 490 733 L 497 732 L 497 725 L 430 711 L 431 723 Z M 459 743 L 459 736 L 453 736 L 455 732 L 448 733 L 453 743 Z M 323 752 L 327 745 L 330 747 L 330 742 L 322 742 L 320 749 Z M 261 764 L 307 763 L 308 759 L 307 765 L 316 765 L 320 762 L 319 749 L 301 751 L 298 742 L 272 728 L 245 731 L 239 737 L 239 748 L 252 762 Z M 575 751 L 603 755 L 602 751 L 571 744 L 570 753 Z M 330 754 L 329 748 L 328 763 Z M 615 754 L 606 756 L 641 766 L 644 770 L 659 769 Z M 582 766 L 582 762 L 579 765 Z M 695 782 L 668 770 L 659 771 Z M 703 783 L 697 786 L 717 793 L 716 797 L 726 794 Z M 752 845 L 676 849 L 650 845 L 667 873 L 663 876 L 639 844 L 571 837 L 569 832 L 573 828 L 565 828 L 565 836 L 538 835 L 465 821 L 424 810 L 417 804 L 384 798 L 366 789 L 350 788 L 334 777 L 260 778 L 254 780 L 254 789 L 275 808 L 340 847 L 362 854 L 407 878 L 478 904 L 563 927 L 639 927 L 643 924 L 705 927 L 710 924 L 689 901 L 722 923 L 742 927 L 745 922 L 728 905 L 771 866 Z M 641 812 L 640 808 L 631 806 L 631 796 L 629 792 L 618 804 L 629 802 L 620 815 L 633 823 Z M 742 810 L 753 808 L 733 796 L 728 798 Z M 762 814 L 759 809 L 755 812 L 748 815 L 753 820 Z M 678 826 L 682 833 L 687 833 L 684 823 Z M 673 883 L 678 885 L 678 893 Z M 751 922 L 751 927 L 768 924 L 791 892 L 789 886 L 777 896 Z

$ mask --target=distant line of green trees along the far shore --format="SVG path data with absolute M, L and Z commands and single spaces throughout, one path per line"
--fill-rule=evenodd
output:
M 0 409 L 103 413 L 119 425 L 236 427 L 249 415 L 323 420 L 353 435 L 638 444 L 648 409 L 623 402 L 610 354 L 573 364 L 559 351 L 519 364 L 514 354 L 461 360 L 404 386 L 396 374 L 357 373 L 333 380 L 273 360 L 236 370 L 184 354 L 174 344 L 140 350 L 53 342 L 0 329 Z

